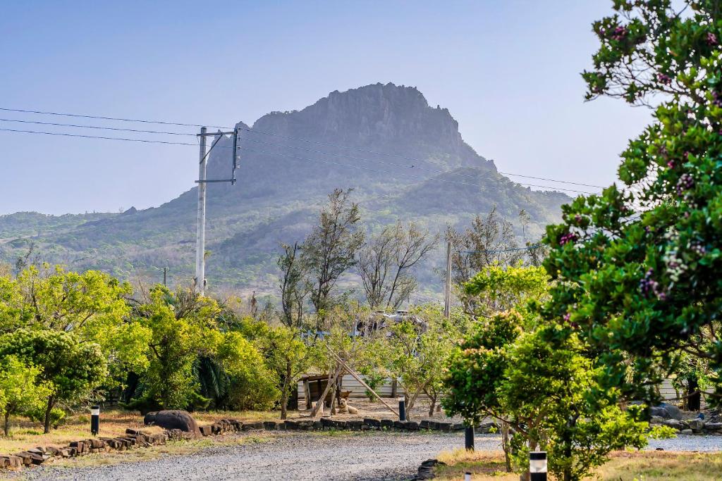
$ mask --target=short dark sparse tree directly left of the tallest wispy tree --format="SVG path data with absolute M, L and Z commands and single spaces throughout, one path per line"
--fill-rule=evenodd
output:
M 281 244 L 283 252 L 278 257 L 281 270 L 281 320 L 284 325 L 298 328 L 303 325 L 303 304 L 308 296 L 308 270 L 301 260 L 300 247 Z

